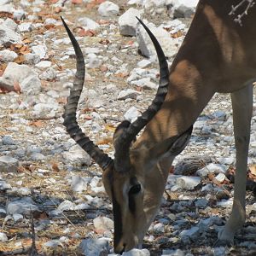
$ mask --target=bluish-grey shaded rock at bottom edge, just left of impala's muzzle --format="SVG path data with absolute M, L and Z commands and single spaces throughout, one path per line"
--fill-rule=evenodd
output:
M 83 255 L 101 256 L 108 255 L 108 240 L 104 238 L 87 238 L 81 241 L 79 248 Z

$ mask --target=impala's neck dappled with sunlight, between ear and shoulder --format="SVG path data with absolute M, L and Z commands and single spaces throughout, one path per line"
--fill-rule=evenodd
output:
M 178 62 L 170 74 L 170 85 L 162 108 L 145 127 L 133 148 L 142 144 L 152 147 L 193 125 L 214 94 L 213 88 L 205 85 L 200 71 L 192 63 Z

